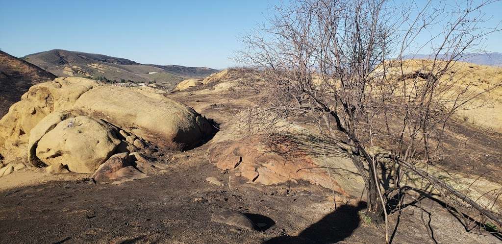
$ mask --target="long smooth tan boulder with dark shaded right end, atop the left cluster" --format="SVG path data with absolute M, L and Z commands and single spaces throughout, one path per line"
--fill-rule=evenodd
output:
M 174 150 L 193 148 L 213 132 L 209 121 L 192 108 L 136 88 L 99 86 L 82 94 L 75 108 Z

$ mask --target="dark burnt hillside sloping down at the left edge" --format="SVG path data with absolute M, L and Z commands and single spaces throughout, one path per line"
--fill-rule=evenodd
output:
M 54 74 L 0 51 L 0 117 L 32 85 L 54 78 Z

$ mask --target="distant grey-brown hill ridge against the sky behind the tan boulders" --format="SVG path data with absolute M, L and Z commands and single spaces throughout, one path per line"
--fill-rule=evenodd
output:
M 124 58 L 60 49 L 30 54 L 22 59 L 57 76 L 105 77 L 111 81 L 156 81 L 164 89 L 174 88 L 184 79 L 203 78 L 218 71 L 206 67 L 141 64 Z

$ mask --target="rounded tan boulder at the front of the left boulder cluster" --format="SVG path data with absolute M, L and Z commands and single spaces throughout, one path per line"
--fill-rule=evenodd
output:
M 67 165 L 77 173 L 92 173 L 108 159 L 120 140 L 102 121 L 78 116 L 61 121 L 38 142 L 36 156 L 47 165 Z

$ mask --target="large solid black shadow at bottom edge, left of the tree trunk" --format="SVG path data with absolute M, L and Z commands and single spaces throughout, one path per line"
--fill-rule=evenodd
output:
M 359 227 L 361 219 L 358 211 L 365 207 L 365 202 L 359 202 L 357 206 L 342 205 L 304 229 L 298 236 L 277 236 L 263 243 L 336 243 L 350 236 Z

